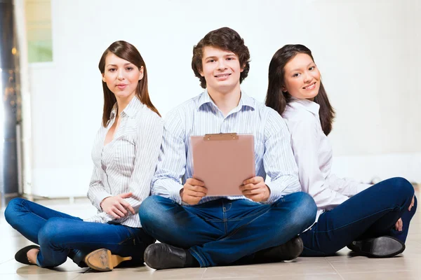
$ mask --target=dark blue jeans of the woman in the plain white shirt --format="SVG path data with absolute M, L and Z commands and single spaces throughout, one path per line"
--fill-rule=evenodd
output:
M 408 211 L 413 186 L 402 178 L 392 178 L 363 190 L 319 217 L 310 230 L 300 236 L 304 243 L 301 256 L 325 256 L 344 248 L 354 240 L 389 235 L 405 242 L 410 219 L 417 209 Z M 394 230 L 402 218 L 403 231 Z

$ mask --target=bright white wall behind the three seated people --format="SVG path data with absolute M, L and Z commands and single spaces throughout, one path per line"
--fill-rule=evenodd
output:
M 250 49 L 243 90 L 260 101 L 276 50 L 286 43 L 313 50 L 338 112 L 331 134 L 338 174 L 387 176 L 379 172 L 389 160 L 395 173 L 421 181 L 420 8 L 417 0 L 52 0 L 54 62 L 29 69 L 32 193 L 86 194 L 102 116 L 98 62 L 110 43 L 126 40 L 140 50 L 152 102 L 165 116 L 201 92 L 190 66 L 193 45 L 224 26 Z M 417 166 L 410 172 L 408 154 Z

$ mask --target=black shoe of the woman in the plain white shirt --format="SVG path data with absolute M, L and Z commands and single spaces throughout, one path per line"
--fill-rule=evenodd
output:
M 401 240 L 389 236 L 352 241 L 347 247 L 371 258 L 390 258 L 405 250 L 405 244 Z

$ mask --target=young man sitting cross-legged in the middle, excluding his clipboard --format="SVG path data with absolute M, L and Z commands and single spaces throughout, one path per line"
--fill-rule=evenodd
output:
M 162 242 L 146 249 L 149 267 L 290 260 L 302 251 L 296 236 L 314 222 L 316 205 L 300 192 L 283 119 L 240 89 L 249 59 L 241 36 L 227 27 L 194 47 L 192 68 L 205 91 L 168 113 L 152 196 L 139 211 L 143 229 Z M 192 178 L 189 137 L 229 132 L 254 135 L 256 176 L 239 186 L 242 196 L 208 197 L 206 184 Z

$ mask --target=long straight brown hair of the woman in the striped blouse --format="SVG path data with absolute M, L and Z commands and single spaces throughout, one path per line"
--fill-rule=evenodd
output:
M 117 57 L 120 57 L 128 62 L 133 63 L 135 66 L 140 69 L 143 66 L 143 78 L 139 80 L 138 87 L 136 88 L 135 96 L 138 97 L 140 102 L 145 104 L 149 109 L 154 111 L 159 115 L 158 110 L 156 110 L 154 104 L 152 104 L 151 99 L 149 98 L 149 92 L 147 90 L 147 71 L 145 61 L 143 61 L 142 56 L 140 55 L 139 51 L 135 48 L 134 45 L 131 43 L 127 43 L 126 41 L 115 41 L 105 52 L 102 54 L 100 59 L 100 64 L 98 68 L 100 69 L 101 73 L 105 73 L 105 58 L 109 53 L 113 53 Z M 116 97 L 114 93 L 107 87 L 107 83 L 102 81 L 102 90 L 104 90 L 104 111 L 102 113 L 102 125 L 104 127 L 107 126 L 109 121 L 109 116 L 112 111 L 112 107 L 116 103 Z M 161 116 L 161 115 L 159 115 Z

